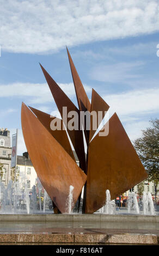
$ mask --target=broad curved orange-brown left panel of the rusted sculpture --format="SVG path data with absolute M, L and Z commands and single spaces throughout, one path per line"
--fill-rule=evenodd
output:
M 87 176 L 24 103 L 21 123 L 27 150 L 42 186 L 59 211 L 68 213 L 66 200 L 70 185 L 74 186 L 73 209 Z

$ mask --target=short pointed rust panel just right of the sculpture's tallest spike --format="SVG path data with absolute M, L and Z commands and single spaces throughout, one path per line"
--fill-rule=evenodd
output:
M 92 94 L 91 94 L 91 112 L 95 111 L 96 112 L 96 124 L 97 127 L 100 125 L 99 124 L 99 116 L 98 112 L 101 111 L 102 114 L 102 119 L 105 117 L 105 112 L 107 112 L 109 109 L 109 105 L 102 99 L 102 97 L 97 94 L 97 92 L 92 89 Z M 96 130 L 93 130 L 93 115 L 90 116 L 90 132 L 89 132 L 89 141 L 91 141 L 91 138 L 94 136 L 94 133 Z

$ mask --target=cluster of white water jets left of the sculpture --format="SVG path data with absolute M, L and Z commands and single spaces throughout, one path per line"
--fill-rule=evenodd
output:
M 9 181 L 5 187 L 0 182 L 1 214 L 41 214 L 50 208 L 52 201 L 44 190 L 44 203 L 41 201 L 41 188 L 36 191 L 35 185 L 29 190 L 27 184 Z M 43 211 L 42 211 L 43 209 Z M 52 209 L 49 210 L 52 213 Z

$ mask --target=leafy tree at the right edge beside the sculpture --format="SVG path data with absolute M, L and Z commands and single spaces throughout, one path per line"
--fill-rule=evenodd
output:
M 159 182 L 159 119 L 150 122 L 152 126 L 142 131 L 142 137 L 134 141 L 134 148 L 148 172 L 148 181 L 154 182 L 156 198 Z

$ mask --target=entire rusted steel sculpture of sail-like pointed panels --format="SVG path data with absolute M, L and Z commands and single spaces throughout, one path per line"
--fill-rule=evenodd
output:
M 74 187 L 71 210 L 77 200 L 79 207 L 84 186 L 83 213 L 91 214 L 105 205 L 106 190 L 111 192 L 111 198 L 114 199 L 146 179 L 148 174 L 116 113 L 97 133 L 101 121 L 98 114 L 101 112 L 101 119 L 105 117 L 109 106 L 94 89 L 90 104 L 69 51 L 68 57 L 79 109 L 40 65 L 62 119 L 33 107 L 28 108 L 22 103 L 22 131 L 36 173 L 57 209 L 62 213 L 69 213 L 66 205 L 70 186 Z M 77 113 L 76 129 L 69 128 L 71 118 L 70 115 L 68 118 L 63 117 L 64 107 L 68 113 Z M 83 115 L 81 120 L 83 112 L 89 113 L 89 129 L 84 123 Z M 96 127 L 93 112 L 96 113 Z M 52 129 L 51 124 L 55 120 L 60 124 L 60 130 Z M 104 135 L 101 136 L 103 131 Z M 86 158 L 83 136 L 88 145 Z M 77 154 L 79 167 L 70 141 Z

